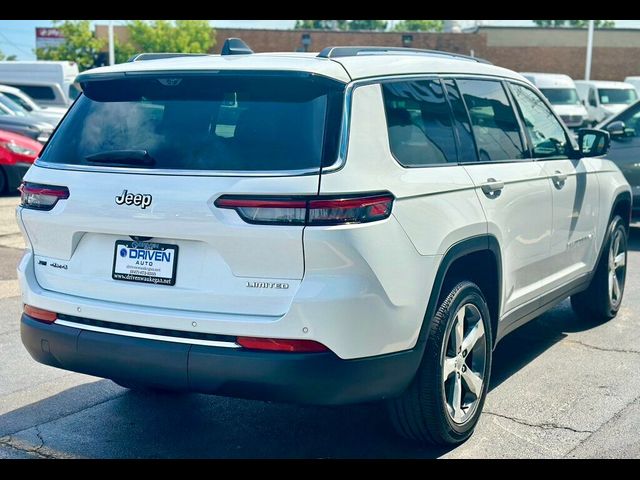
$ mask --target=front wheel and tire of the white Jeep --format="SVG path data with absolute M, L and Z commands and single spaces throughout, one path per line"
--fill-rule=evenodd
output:
M 627 274 L 627 242 L 625 223 L 615 215 L 589 287 L 571 296 L 571 307 L 581 319 L 603 323 L 620 310 Z

